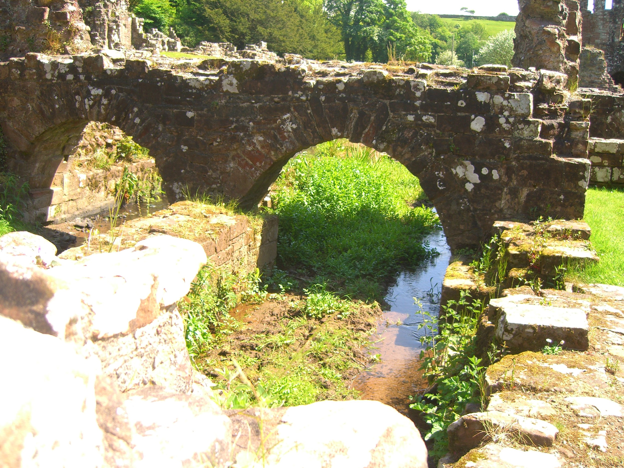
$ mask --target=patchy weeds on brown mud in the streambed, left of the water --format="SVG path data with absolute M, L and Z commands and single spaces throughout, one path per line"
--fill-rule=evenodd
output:
M 364 368 L 360 349 L 378 307 L 339 300 L 322 286 L 308 298 L 270 294 L 268 283 L 260 283 L 258 270 L 235 276 L 206 267 L 178 304 L 193 362 L 217 384 L 215 400 L 245 408 L 354 397 L 349 383 Z M 230 315 L 240 303 L 260 328 Z

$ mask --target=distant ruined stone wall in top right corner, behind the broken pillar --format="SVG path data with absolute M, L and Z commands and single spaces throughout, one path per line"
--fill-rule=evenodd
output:
M 605 9 L 605 0 L 595 0 L 593 12 L 588 0 L 581 2 L 583 14 L 583 42 L 605 52 L 607 69 L 617 84 L 624 83 L 624 2 L 613 0 L 613 7 Z

